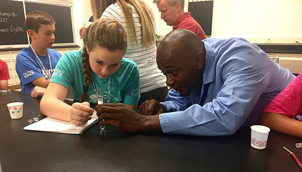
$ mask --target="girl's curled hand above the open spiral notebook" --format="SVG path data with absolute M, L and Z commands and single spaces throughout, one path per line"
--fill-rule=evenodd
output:
M 94 110 L 90 108 L 90 104 L 88 102 L 74 103 L 69 111 L 69 121 L 73 125 L 85 124 L 92 118 L 91 115 L 93 112 Z

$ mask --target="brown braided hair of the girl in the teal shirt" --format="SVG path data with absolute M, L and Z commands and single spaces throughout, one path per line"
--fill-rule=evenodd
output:
M 82 53 L 84 87 L 80 102 L 88 100 L 87 91 L 88 85 L 92 82 L 92 70 L 89 64 L 89 54 L 96 46 L 106 48 L 109 51 L 120 50 L 123 53 L 127 48 L 127 34 L 123 26 L 112 19 L 96 20 L 87 28 L 83 38 L 84 48 Z

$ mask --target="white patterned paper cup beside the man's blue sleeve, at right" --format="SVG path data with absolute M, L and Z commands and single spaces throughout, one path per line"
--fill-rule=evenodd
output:
M 266 148 L 270 129 L 263 125 L 253 125 L 251 129 L 251 146 L 256 149 Z

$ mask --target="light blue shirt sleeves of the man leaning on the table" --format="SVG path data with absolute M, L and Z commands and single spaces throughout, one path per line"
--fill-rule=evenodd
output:
M 204 105 L 194 104 L 186 109 L 189 101 L 169 93 L 164 103 L 169 112 L 159 116 L 164 133 L 218 136 L 233 135 L 250 115 L 269 83 L 269 69 L 263 57 L 250 47 L 225 52 L 217 66 L 223 66 L 222 87 L 215 99 Z M 218 79 L 219 80 L 219 79 Z M 217 82 L 217 81 L 216 81 Z M 210 89 L 216 83 L 211 83 Z M 211 88 L 212 87 L 212 88 Z M 207 95 L 215 94 L 208 92 Z M 191 95 L 192 96 L 192 95 Z M 186 103 L 187 102 L 187 103 Z M 166 110 L 165 109 L 165 110 Z

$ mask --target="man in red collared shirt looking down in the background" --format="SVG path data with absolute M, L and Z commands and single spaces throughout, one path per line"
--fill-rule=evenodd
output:
M 191 13 L 184 11 L 184 0 L 154 0 L 157 4 L 161 19 L 174 29 L 188 29 L 194 32 L 201 40 L 206 36 L 200 25 L 191 17 Z

